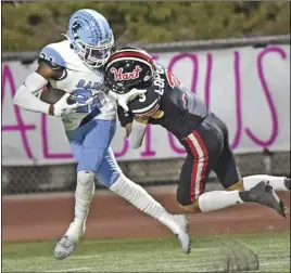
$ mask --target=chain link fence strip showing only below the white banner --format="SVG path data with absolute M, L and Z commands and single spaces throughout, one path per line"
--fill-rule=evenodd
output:
M 287 176 L 290 173 L 290 153 L 255 153 L 237 155 L 242 176 L 268 173 Z M 141 185 L 176 184 L 184 159 L 123 161 L 124 173 Z M 210 181 L 218 183 L 214 173 Z M 74 191 L 76 186 L 76 165 L 2 167 L 2 194 L 33 194 L 43 192 Z M 98 185 L 97 188 L 102 188 Z

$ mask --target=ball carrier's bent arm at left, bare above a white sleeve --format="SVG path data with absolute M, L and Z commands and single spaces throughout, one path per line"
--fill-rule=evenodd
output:
M 58 72 L 53 70 L 45 63 L 40 63 L 37 70 L 28 75 L 23 84 L 17 89 L 13 103 L 20 107 L 45 114 L 53 115 L 50 104 L 40 101 L 37 94 L 49 82 L 49 79 L 55 77 Z

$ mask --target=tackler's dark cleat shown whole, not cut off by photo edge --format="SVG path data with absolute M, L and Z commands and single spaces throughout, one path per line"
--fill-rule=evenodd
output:
M 284 206 L 278 195 L 274 192 L 269 181 L 262 181 L 248 191 L 250 199 L 254 203 L 265 205 L 275 209 L 280 216 L 286 218 Z

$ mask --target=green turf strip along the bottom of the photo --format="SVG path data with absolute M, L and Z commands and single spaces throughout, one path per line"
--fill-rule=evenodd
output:
M 84 240 L 63 261 L 52 257 L 55 242 L 2 245 L 2 272 L 219 272 L 229 246 L 248 246 L 260 271 L 290 272 L 290 233 L 192 237 L 190 255 L 175 238 Z

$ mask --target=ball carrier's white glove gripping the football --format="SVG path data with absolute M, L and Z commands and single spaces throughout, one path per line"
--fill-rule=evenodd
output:
M 76 110 L 76 108 L 85 105 L 90 105 L 93 102 L 93 98 L 89 98 L 85 103 L 67 104 L 67 98 L 69 93 L 64 94 L 59 102 L 53 104 L 53 115 L 55 117 L 62 117 Z

